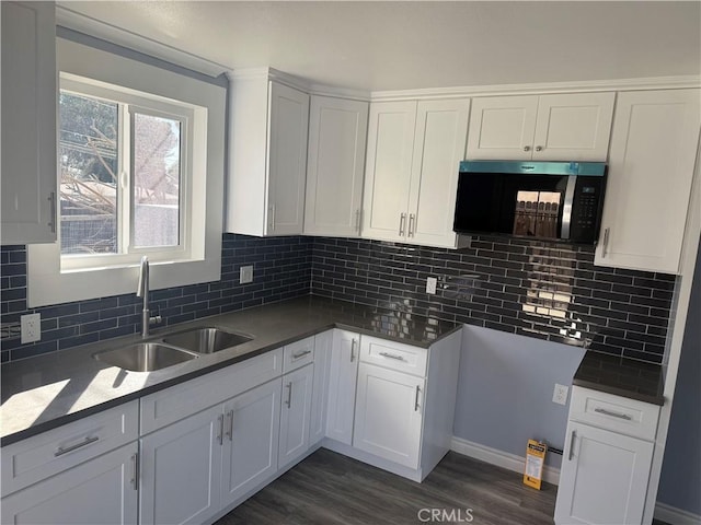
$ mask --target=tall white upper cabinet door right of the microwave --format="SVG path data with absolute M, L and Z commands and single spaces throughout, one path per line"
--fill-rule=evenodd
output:
M 699 143 L 700 93 L 618 95 L 596 265 L 678 271 Z

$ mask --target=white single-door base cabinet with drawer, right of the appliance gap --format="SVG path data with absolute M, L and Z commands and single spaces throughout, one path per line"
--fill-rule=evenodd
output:
M 640 525 L 659 407 L 574 386 L 555 524 Z

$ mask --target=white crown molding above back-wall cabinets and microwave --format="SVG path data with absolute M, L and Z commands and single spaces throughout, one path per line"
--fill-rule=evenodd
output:
M 458 98 L 475 96 L 499 95 L 540 95 L 544 93 L 583 93 L 596 91 L 639 91 L 639 90 L 673 90 L 685 88 L 700 88 L 701 77 L 653 77 L 645 79 L 614 79 L 577 82 L 542 82 L 531 84 L 497 84 L 458 88 L 429 88 L 423 90 L 374 91 L 372 102 L 403 101 L 425 98 Z

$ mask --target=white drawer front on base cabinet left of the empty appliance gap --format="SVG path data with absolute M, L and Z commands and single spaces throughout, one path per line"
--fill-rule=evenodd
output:
M 360 361 L 423 377 L 426 375 L 428 350 L 377 337 L 363 336 L 360 338 Z

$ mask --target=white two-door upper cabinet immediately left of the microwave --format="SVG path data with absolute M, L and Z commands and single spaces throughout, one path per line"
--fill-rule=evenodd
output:
M 467 98 L 370 105 L 364 237 L 456 247 L 469 113 Z

